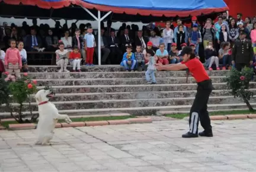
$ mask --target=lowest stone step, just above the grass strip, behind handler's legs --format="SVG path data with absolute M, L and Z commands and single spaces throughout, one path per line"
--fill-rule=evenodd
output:
M 256 107 L 256 103 L 251 103 L 252 107 Z M 233 104 L 216 104 L 207 105 L 209 111 L 223 111 L 223 110 L 235 110 L 235 109 L 247 109 L 245 103 L 233 103 Z M 130 113 L 133 115 L 156 115 L 159 111 L 178 112 L 178 111 L 190 111 L 191 105 L 180 106 L 151 106 L 151 107 L 133 107 L 133 108 L 103 108 L 103 109 L 71 109 L 71 110 L 59 110 L 60 114 L 68 115 L 92 115 L 92 114 L 107 114 L 107 113 Z M 33 113 L 38 113 L 33 111 Z M 15 115 L 15 114 L 14 114 Z M 30 112 L 23 112 L 24 118 L 30 115 Z M 10 118 L 8 112 L 0 112 L 1 118 Z

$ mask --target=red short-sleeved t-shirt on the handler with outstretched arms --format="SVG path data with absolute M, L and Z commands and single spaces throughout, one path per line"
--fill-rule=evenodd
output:
M 186 62 L 182 61 L 181 64 L 185 64 L 185 66 L 187 66 L 188 70 L 190 70 L 190 74 L 194 77 L 196 82 L 202 82 L 210 79 L 199 59 L 194 58 Z

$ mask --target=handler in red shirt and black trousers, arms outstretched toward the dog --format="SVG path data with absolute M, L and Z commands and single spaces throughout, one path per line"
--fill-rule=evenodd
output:
M 190 109 L 190 131 L 186 134 L 183 134 L 183 138 L 191 138 L 191 137 L 213 137 L 212 126 L 210 125 L 210 117 L 207 111 L 207 102 L 209 100 L 210 93 L 213 90 L 212 80 L 208 76 L 206 70 L 204 69 L 203 64 L 201 64 L 200 60 L 196 58 L 194 51 L 191 47 L 184 47 L 181 51 L 181 56 L 183 61 L 178 64 L 170 64 L 162 66 L 161 64 L 157 64 L 156 68 L 158 70 L 184 70 L 188 69 L 190 71 L 191 76 L 197 82 L 197 94 L 194 99 L 194 103 Z M 201 126 L 203 126 L 204 131 L 198 133 L 198 125 L 199 120 Z

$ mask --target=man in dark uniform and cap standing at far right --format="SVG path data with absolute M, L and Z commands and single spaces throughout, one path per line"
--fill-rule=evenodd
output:
M 252 64 L 254 52 L 252 43 L 246 39 L 247 33 L 244 30 L 239 32 L 239 40 L 235 41 L 232 49 L 232 64 L 238 71 L 243 67 L 249 67 Z

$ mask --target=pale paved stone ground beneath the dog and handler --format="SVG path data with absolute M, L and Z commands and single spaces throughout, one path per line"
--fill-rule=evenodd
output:
M 214 121 L 213 138 L 181 138 L 187 121 L 56 129 L 57 145 L 34 130 L 0 131 L 0 171 L 256 171 L 256 120 Z

